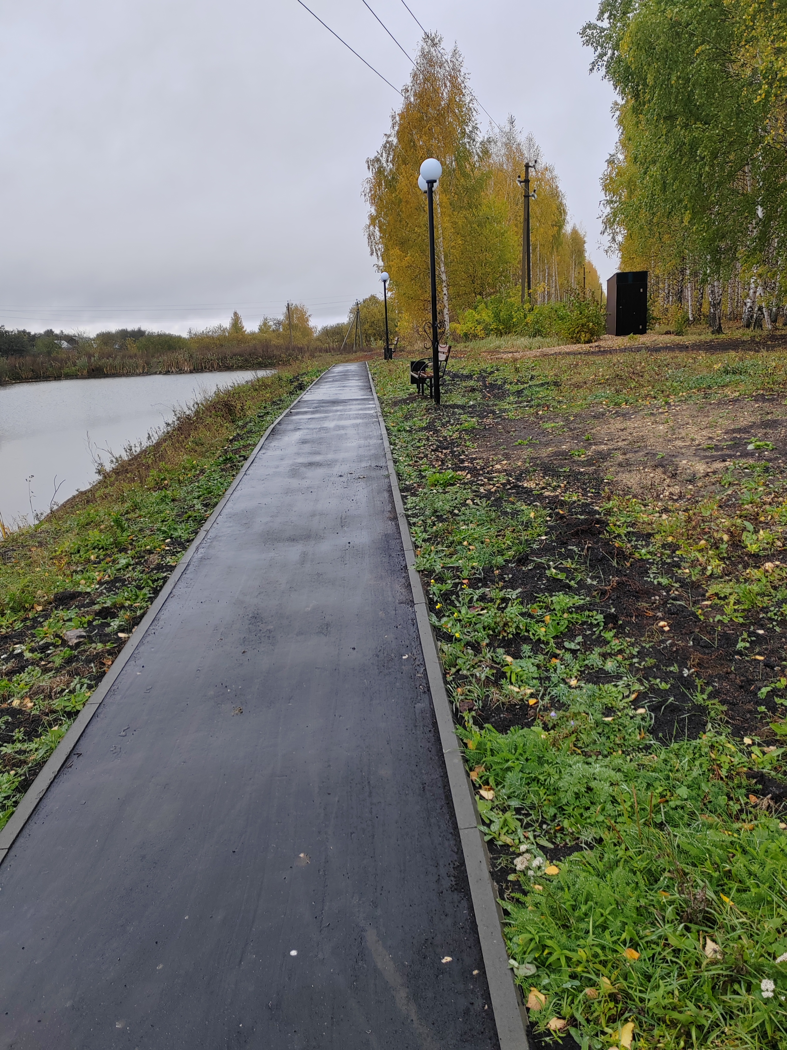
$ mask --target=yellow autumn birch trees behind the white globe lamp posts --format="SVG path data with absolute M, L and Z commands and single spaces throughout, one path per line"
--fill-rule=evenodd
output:
M 364 186 L 369 248 L 390 274 L 400 327 L 409 330 L 423 329 L 429 316 L 426 202 L 418 188 L 427 156 L 443 165 L 435 234 L 438 299 L 446 329 L 480 297 L 519 285 L 523 191 L 516 176 L 524 174 L 526 161 L 540 161 L 540 153 L 513 118 L 482 134 L 462 56 L 456 47 L 447 51 L 432 34 L 421 42 L 389 132 L 367 161 Z M 586 258 L 584 236 L 568 228 L 566 200 L 550 165 L 539 163 L 532 188 L 537 190 L 531 210 L 535 301 L 563 298 L 583 284 L 600 292 L 598 274 Z

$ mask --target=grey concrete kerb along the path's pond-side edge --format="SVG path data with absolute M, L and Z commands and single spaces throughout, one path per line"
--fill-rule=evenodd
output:
M 183 573 L 186 571 L 186 566 L 193 558 L 197 547 L 205 540 L 206 536 L 210 532 L 211 528 L 216 522 L 216 519 L 224 510 L 232 494 L 240 484 L 243 475 L 247 472 L 249 467 L 254 462 L 254 459 L 256 458 L 260 448 L 270 437 L 271 433 L 274 430 L 276 426 L 279 425 L 284 416 L 286 416 L 288 413 L 290 413 L 295 407 L 295 405 L 300 401 L 300 399 L 311 391 L 314 384 L 318 382 L 320 379 L 322 379 L 322 377 L 326 373 L 328 373 L 333 368 L 335 368 L 335 365 L 332 364 L 331 368 L 326 369 L 325 372 L 322 372 L 317 377 L 317 379 L 311 382 L 304 391 L 301 391 L 298 397 L 293 401 L 293 403 L 288 405 L 288 407 L 281 413 L 281 415 L 278 416 L 273 421 L 273 423 L 271 423 L 265 433 L 262 435 L 257 444 L 254 446 L 254 449 L 250 454 L 246 463 L 243 463 L 243 465 L 240 467 L 238 472 L 233 478 L 230 487 L 227 489 L 225 495 L 216 504 L 210 518 L 205 522 L 205 524 L 199 529 L 197 534 L 191 541 L 191 544 L 187 547 L 183 558 L 177 563 L 175 568 L 172 570 L 169 579 L 165 583 L 164 587 L 162 587 L 155 601 L 150 606 L 148 611 L 145 613 L 141 622 L 137 624 L 134 633 L 128 639 L 126 645 L 123 647 L 123 650 L 112 664 L 111 668 L 102 678 L 101 685 L 98 687 L 98 689 L 95 689 L 93 693 L 90 694 L 90 699 L 84 706 L 82 711 L 80 711 L 79 715 L 77 715 L 77 718 L 71 722 L 65 736 L 57 746 L 55 751 L 51 753 L 44 768 L 41 770 L 39 775 L 36 777 L 36 779 L 33 781 L 30 786 L 27 789 L 27 791 L 20 799 L 19 805 L 14 811 L 13 816 L 9 818 L 5 826 L 0 831 L 0 864 L 2 864 L 2 862 L 5 860 L 8 850 L 14 844 L 14 840 L 21 833 L 24 825 L 27 823 L 29 818 L 35 813 L 36 806 L 46 794 L 49 784 L 51 784 L 55 777 L 58 775 L 58 773 L 60 773 L 67 758 L 69 757 L 75 747 L 77 746 L 77 741 L 85 732 L 91 718 L 101 707 L 101 704 L 106 697 L 109 690 L 114 685 L 115 678 L 119 676 L 119 674 L 126 666 L 126 664 L 128 664 L 129 659 L 134 653 L 134 650 L 142 640 L 143 635 L 161 612 L 165 602 L 172 593 L 175 584 L 180 579 Z

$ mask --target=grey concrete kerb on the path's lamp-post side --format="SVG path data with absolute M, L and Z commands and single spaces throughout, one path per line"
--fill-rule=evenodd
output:
M 421 584 L 421 576 L 413 568 L 416 552 L 412 548 L 410 529 L 404 512 L 404 504 L 402 503 L 402 495 L 399 491 L 399 482 L 393 465 L 393 457 L 390 453 L 388 434 L 385 429 L 380 401 L 375 390 L 368 364 L 366 365 L 366 371 L 385 446 L 385 459 L 388 465 L 388 477 L 393 494 L 393 505 L 396 506 L 397 519 L 399 520 L 399 529 L 402 533 L 402 546 L 404 547 L 407 574 L 410 580 L 410 587 L 412 588 L 412 600 L 416 604 L 416 621 L 421 637 L 421 648 L 424 653 L 426 675 L 429 680 L 429 691 L 431 693 L 432 705 L 434 706 L 434 716 L 438 722 L 440 742 L 443 748 L 448 784 L 451 791 L 451 799 L 462 840 L 462 849 L 465 856 L 467 878 L 470 883 L 470 898 L 475 912 L 475 922 L 478 927 L 481 951 L 484 957 L 484 967 L 489 983 L 489 994 L 492 1000 L 492 1011 L 494 1012 L 494 1021 L 497 1026 L 497 1038 L 499 1040 L 501 1050 L 529 1050 L 530 1043 L 528 1040 L 528 1021 L 525 1012 L 525 1004 L 519 989 L 514 984 L 513 973 L 508 965 L 508 951 L 506 950 L 506 942 L 503 938 L 503 912 L 497 904 L 497 892 L 489 872 L 486 844 L 478 831 L 480 820 L 478 812 L 475 807 L 475 797 L 467 776 L 467 771 L 465 770 L 459 740 L 453 729 L 453 717 L 445 691 L 443 669 L 440 664 L 431 624 L 429 623 L 429 609 L 426 604 L 426 595 Z

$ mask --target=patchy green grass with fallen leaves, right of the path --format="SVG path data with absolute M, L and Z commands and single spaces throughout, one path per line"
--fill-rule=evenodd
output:
M 785 1050 L 787 478 L 635 496 L 577 445 L 781 403 L 787 355 L 462 353 L 440 410 L 373 372 L 536 1037 Z

